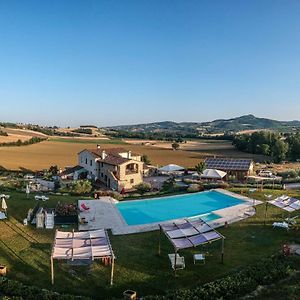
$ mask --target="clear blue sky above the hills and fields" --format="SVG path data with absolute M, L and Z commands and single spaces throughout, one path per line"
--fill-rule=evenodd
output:
M 0 121 L 300 119 L 299 0 L 0 0 Z

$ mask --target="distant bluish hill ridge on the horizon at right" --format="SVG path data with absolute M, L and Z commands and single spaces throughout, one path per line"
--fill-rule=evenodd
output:
M 289 131 L 294 128 L 300 129 L 300 121 L 277 121 L 266 118 L 258 118 L 254 115 L 245 115 L 232 119 L 219 119 L 210 122 L 155 122 L 136 125 L 120 125 L 109 129 L 129 132 L 180 132 L 197 134 L 236 133 L 244 130 L 283 130 Z

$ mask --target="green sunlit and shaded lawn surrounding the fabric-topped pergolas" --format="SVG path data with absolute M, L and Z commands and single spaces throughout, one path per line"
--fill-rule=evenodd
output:
M 239 191 L 239 190 L 234 190 Z M 0 190 L 1 192 L 1 190 Z M 269 191 L 268 191 L 269 192 Z M 281 191 L 274 191 L 281 194 Z M 9 220 L 0 222 L 0 263 L 9 268 L 8 276 L 27 284 L 34 284 L 58 292 L 81 294 L 93 299 L 121 297 L 125 289 L 134 289 L 139 295 L 163 294 L 168 289 L 193 287 L 224 276 L 230 272 L 254 263 L 261 257 L 278 252 L 287 242 L 300 242 L 296 230 L 273 229 L 270 224 L 282 217 L 282 212 L 274 207 L 268 209 L 267 225 L 264 226 L 265 206 L 257 208 L 257 215 L 246 221 L 220 229 L 226 237 L 225 261 L 220 261 L 221 242 L 202 248 L 182 251 L 186 259 L 186 269 L 174 278 L 167 254 L 172 252 L 170 243 L 163 239 L 162 255 L 157 255 L 158 232 L 124 236 L 111 236 L 117 256 L 115 285 L 109 286 L 110 268 L 94 263 L 91 269 L 69 267 L 55 263 L 55 285 L 50 284 L 50 252 L 54 230 L 37 230 L 24 227 L 21 221 L 27 210 L 33 207 L 33 195 L 10 193 L 8 200 Z M 264 192 L 256 192 L 257 199 L 264 198 Z M 300 197 L 300 192 L 293 196 Z M 50 196 L 47 207 L 54 207 L 58 201 L 75 202 L 79 198 L 71 196 Z M 192 254 L 207 252 L 205 265 L 193 265 Z M 74 270 L 74 272 L 70 272 Z

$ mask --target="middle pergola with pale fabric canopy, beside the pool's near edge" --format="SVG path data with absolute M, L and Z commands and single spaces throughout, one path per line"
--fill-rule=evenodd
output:
M 195 221 L 182 220 L 168 224 L 159 225 L 159 246 L 158 254 L 161 253 L 161 233 L 163 232 L 174 247 L 175 251 L 175 268 L 177 252 L 181 249 L 197 247 L 222 239 L 221 260 L 224 260 L 224 239 L 225 237 L 213 229 L 202 219 Z

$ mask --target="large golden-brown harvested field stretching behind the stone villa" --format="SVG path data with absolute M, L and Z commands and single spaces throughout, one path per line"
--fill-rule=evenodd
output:
M 95 148 L 96 141 L 66 140 L 55 138 L 45 142 L 22 147 L 0 147 L 0 167 L 6 169 L 30 169 L 41 170 L 51 165 L 58 165 L 61 168 L 77 164 L 77 153 L 85 148 Z M 103 140 L 100 142 L 105 148 L 124 147 L 133 152 L 146 154 L 153 165 L 165 165 L 176 163 L 184 167 L 194 167 L 200 160 L 208 156 L 224 157 L 250 157 L 256 161 L 263 161 L 266 158 L 258 155 L 251 155 L 235 149 L 222 149 L 218 143 L 210 145 L 210 149 L 199 148 L 196 151 L 177 150 L 153 146 L 124 144 L 119 140 Z

